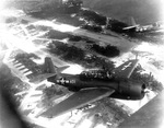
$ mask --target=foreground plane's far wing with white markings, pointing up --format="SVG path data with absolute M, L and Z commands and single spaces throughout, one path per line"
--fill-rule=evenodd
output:
M 130 78 L 131 73 L 138 65 L 138 59 L 126 61 L 114 70 L 115 74 L 118 78 Z

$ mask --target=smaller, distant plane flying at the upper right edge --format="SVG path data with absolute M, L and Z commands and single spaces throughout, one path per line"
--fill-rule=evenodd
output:
M 145 33 L 145 32 L 149 33 L 150 32 L 151 33 L 151 32 L 164 30 L 162 22 L 155 22 L 150 25 L 140 25 L 136 23 L 133 18 L 130 18 L 128 24 L 129 26 L 122 28 L 125 32 L 134 32 L 134 33 Z

